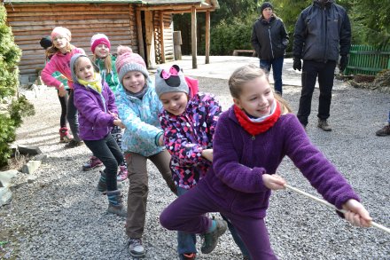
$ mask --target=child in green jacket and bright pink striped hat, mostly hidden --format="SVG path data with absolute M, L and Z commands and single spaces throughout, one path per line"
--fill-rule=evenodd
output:
M 93 57 L 92 61 L 98 66 L 100 75 L 105 83 L 108 84 L 108 87 L 116 92 L 119 80 L 118 75 L 116 74 L 115 67 L 115 56 L 110 53 L 111 43 L 108 40 L 108 37 L 104 34 L 93 35 L 90 39 L 90 51 L 92 51 Z M 121 148 L 121 128 L 118 126 L 113 126 L 111 134 L 115 139 L 118 146 Z M 101 166 L 102 162 L 98 160 L 96 156 L 90 157 L 89 162 L 86 162 L 82 165 L 82 170 L 94 169 L 95 167 Z M 124 181 L 128 177 L 128 169 L 126 163 L 123 163 L 119 167 L 119 173 L 117 176 L 118 181 Z

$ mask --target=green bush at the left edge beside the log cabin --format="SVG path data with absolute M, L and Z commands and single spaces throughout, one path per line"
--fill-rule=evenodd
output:
M 35 114 L 24 96 L 17 97 L 21 51 L 14 43 L 12 30 L 5 24 L 6 10 L 0 4 L 0 167 L 7 164 L 15 131 L 24 116 Z

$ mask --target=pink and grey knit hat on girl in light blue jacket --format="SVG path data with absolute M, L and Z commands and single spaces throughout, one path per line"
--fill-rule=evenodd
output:
M 149 76 L 144 59 L 142 59 L 139 54 L 134 53 L 131 48 L 120 45 L 118 46 L 117 53 L 118 57 L 115 61 L 115 67 L 118 72 L 120 82 L 122 82 L 124 75 L 126 75 L 129 71 L 139 71 L 146 78 Z

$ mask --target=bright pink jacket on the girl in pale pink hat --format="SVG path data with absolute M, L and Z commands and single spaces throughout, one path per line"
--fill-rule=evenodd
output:
M 58 51 L 51 57 L 51 60 L 46 64 L 41 73 L 43 82 L 48 86 L 54 86 L 56 89 L 61 85 L 61 82 L 58 81 L 52 74 L 58 71 L 60 74 L 65 75 L 67 78 L 67 85 L 69 88 L 73 89 L 73 81 L 70 70 L 70 59 L 74 53 L 85 54 L 85 51 L 80 48 L 74 48 L 70 52 L 61 53 Z

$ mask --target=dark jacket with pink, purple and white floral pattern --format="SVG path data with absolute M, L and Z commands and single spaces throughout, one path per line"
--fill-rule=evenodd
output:
M 199 93 L 192 97 L 183 114 L 162 110 L 160 124 L 164 142 L 171 154 L 171 169 L 175 185 L 190 189 L 197 185 L 212 165 L 202 157 L 204 149 L 213 148 L 216 122 L 222 107 L 213 95 Z

